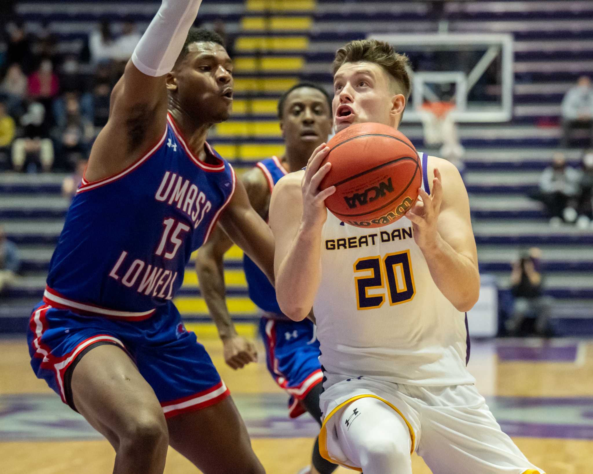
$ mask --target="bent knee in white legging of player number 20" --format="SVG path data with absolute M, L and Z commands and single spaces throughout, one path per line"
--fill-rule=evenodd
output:
M 332 443 L 365 474 L 412 474 L 410 428 L 398 412 L 377 398 L 353 401 L 336 414 L 336 437 Z

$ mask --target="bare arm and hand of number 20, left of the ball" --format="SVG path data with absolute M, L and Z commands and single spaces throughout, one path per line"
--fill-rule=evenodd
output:
M 282 312 L 294 321 L 307 317 L 319 287 L 325 200 L 336 190 L 331 186 L 319 191 L 331 166 L 328 163 L 319 168 L 328 152 L 326 144 L 321 144 L 305 172 L 282 178 L 272 192 L 270 228 L 276 240 L 276 299 Z

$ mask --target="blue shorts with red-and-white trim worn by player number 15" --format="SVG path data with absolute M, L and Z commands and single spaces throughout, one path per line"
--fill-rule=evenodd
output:
M 72 371 L 84 354 L 102 344 L 116 345 L 132 358 L 167 418 L 206 408 L 229 395 L 204 346 L 186 330 L 173 303 L 143 321 L 81 315 L 72 309 L 42 302 L 27 329 L 33 371 L 72 409 Z

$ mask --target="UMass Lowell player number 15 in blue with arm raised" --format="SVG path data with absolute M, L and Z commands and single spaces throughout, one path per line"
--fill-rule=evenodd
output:
M 233 79 L 220 37 L 190 31 L 199 5 L 163 0 L 113 89 L 28 329 L 37 376 L 109 440 L 117 474 L 162 473 L 168 446 L 205 474 L 264 473 L 172 301 L 217 223 L 273 271 L 269 227 L 206 143 Z

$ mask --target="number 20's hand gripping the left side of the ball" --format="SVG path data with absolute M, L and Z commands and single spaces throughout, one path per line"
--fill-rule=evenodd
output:
M 321 143 L 307 163 L 307 169 L 301 182 L 302 190 L 302 222 L 313 228 L 323 226 L 327 219 L 327 208 L 325 200 L 336 192 L 335 186 L 330 186 L 323 191 L 319 185 L 326 174 L 330 171 L 331 163 L 320 167 L 321 162 L 329 153 L 326 143 Z

